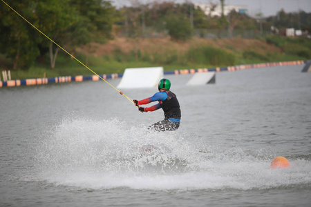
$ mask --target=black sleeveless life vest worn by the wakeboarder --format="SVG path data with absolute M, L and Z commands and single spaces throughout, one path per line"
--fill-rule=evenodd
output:
M 164 92 L 167 93 L 167 99 L 160 101 L 160 104 L 164 110 L 165 120 L 169 118 L 180 119 L 181 111 L 176 95 L 170 90 Z

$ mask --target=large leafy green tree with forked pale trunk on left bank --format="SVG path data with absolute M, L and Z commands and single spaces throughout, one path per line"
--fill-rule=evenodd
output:
M 70 49 L 85 45 L 91 41 L 105 42 L 112 38 L 111 31 L 115 23 L 115 8 L 109 1 L 101 0 L 56 0 L 39 2 L 37 6 L 38 22 L 59 46 Z M 50 41 L 48 44 L 51 68 L 55 67 L 59 47 Z

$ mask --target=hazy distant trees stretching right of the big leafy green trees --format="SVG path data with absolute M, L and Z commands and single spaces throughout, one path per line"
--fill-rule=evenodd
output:
M 172 1 L 141 4 L 140 1 L 134 1 L 133 6 L 120 9 L 122 17 L 121 22 L 117 22 L 116 34 L 122 34 L 125 37 L 148 37 L 153 32 L 156 34 L 167 33 L 172 39 L 187 40 L 201 32 L 200 37 L 204 37 L 204 31 L 219 30 L 234 31 L 258 30 L 270 31 L 271 26 L 278 28 L 295 28 L 296 30 L 308 30 L 311 32 L 311 13 L 303 10 L 294 13 L 285 13 L 280 10 L 276 16 L 263 18 L 262 13 L 255 17 L 250 17 L 246 13 L 239 13 L 232 10 L 219 17 L 212 17 L 211 12 L 215 10 L 217 3 L 210 3 L 209 14 L 194 6 L 193 3 L 185 2 L 176 4 Z M 224 9 L 224 0 L 219 1 L 220 8 Z M 150 32 L 151 31 L 151 32 Z

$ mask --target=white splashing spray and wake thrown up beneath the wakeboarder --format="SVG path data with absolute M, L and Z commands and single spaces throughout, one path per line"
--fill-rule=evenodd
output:
M 117 119 L 64 120 L 37 143 L 39 180 L 80 188 L 248 190 L 310 184 L 310 161 L 271 170 L 269 150 L 194 144 L 180 132 L 148 132 Z

